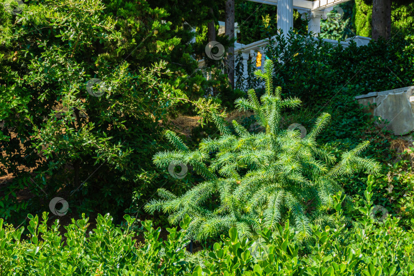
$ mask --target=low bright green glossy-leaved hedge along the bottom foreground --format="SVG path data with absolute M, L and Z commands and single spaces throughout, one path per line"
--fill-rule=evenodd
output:
M 58 220 L 47 226 L 46 213 L 40 223 L 37 216 L 28 216 L 30 234 L 25 237 L 23 227 L 3 225 L 0 219 L 0 275 L 412 275 L 413 232 L 402 231 L 396 218 L 379 221 L 370 216 L 369 179 L 356 227 L 344 223 L 343 196 L 338 194 L 333 197 L 336 226 L 312 226 L 306 244 L 297 242 L 289 222 L 274 233 L 259 232 L 256 241 L 239 238 L 231 228 L 210 248 L 190 254 L 188 217 L 180 231 L 167 228 L 165 241 L 159 238 L 159 227 L 143 222 L 145 242 L 140 244 L 135 243 L 129 216 L 119 227 L 109 214 L 99 215 L 90 232 L 87 218 L 72 220 L 64 238 Z

